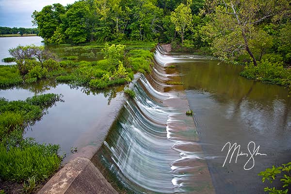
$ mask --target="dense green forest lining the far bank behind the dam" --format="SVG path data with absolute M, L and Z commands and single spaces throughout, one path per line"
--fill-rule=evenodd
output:
M 32 14 L 48 43 L 176 43 L 227 60 L 291 64 L 289 0 L 80 0 Z M 173 44 L 175 46 L 175 44 Z

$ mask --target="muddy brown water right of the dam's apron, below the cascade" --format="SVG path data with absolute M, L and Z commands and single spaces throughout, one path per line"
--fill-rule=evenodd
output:
M 183 75 L 187 99 L 194 111 L 200 143 L 209 164 L 217 194 L 263 194 L 260 171 L 273 164 L 291 161 L 291 97 L 284 87 L 250 81 L 240 77 L 241 66 L 226 65 L 216 60 L 176 56 Z M 254 167 L 244 170 L 249 159 L 239 156 L 223 163 L 230 142 L 249 153 L 249 142 L 259 152 Z M 251 145 L 253 149 L 253 144 Z M 252 151 L 253 152 L 253 151 Z M 232 153 L 232 151 L 231 151 Z M 245 168 L 252 167 L 253 162 Z

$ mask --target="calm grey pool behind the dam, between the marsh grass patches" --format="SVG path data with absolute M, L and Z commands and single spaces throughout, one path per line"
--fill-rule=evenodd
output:
M 100 123 L 106 123 L 109 114 L 116 107 L 123 87 L 92 93 L 83 88 L 70 88 L 66 84 L 40 82 L 36 85 L 0 90 L 0 97 L 9 100 L 24 100 L 34 95 L 62 94 L 65 102 L 57 102 L 48 113 L 31 129 L 25 137 L 33 137 L 39 143 L 59 144 L 62 152 L 70 155 L 70 147 L 100 144 L 106 135 L 106 129 Z M 114 100 L 113 100 L 114 99 Z

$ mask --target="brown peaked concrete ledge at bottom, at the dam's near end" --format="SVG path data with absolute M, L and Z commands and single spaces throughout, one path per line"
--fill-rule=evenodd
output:
M 67 163 L 38 194 L 118 194 L 87 158 Z

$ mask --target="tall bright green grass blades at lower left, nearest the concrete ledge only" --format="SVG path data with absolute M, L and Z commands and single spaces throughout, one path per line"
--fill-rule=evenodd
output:
M 0 177 L 21 181 L 32 176 L 38 180 L 49 178 L 60 166 L 57 145 L 10 147 L 0 144 Z

